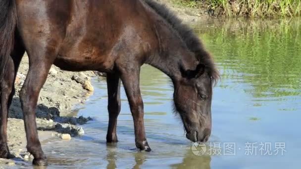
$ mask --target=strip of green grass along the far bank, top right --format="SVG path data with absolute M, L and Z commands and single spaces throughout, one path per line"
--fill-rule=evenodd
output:
M 187 7 L 206 6 L 215 16 L 300 16 L 301 0 L 174 0 Z

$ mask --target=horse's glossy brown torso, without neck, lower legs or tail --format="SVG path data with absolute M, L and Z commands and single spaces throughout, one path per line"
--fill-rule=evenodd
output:
M 140 0 L 38 1 L 16 0 L 18 29 L 26 49 L 55 51 L 54 64 L 61 69 L 110 72 L 120 57 L 143 62 L 154 43 Z

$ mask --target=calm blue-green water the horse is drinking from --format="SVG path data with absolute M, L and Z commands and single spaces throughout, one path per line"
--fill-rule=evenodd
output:
M 78 115 L 94 120 L 83 125 L 83 137 L 43 143 L 48 168 L 299 169 L 301 19 L 210 20 L 192 26 L 215 56 L 222 78 L 214 87 L 213 130 L 207 143 L 211 155 L 193 154 L 181 121 L 172 113 L 170 80 L 144 66 L 141 89 L 146 133 L 153 151 L 135 149 L 124 90 L 117 127 L 120 142 L 105 143 L 106 83 L 94 80 L 95 94 L 77 110 Z M 229 145 L 235 150 L 227 149 Z M 284 146 L 284 151 L 278 149 L 276 155 L 277 146 Z

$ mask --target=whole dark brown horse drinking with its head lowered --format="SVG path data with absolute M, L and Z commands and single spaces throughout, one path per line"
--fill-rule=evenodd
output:
M 35 109 L 52 64 L 68 71 L 107 73 L 109 125 L 117 142 L 120 82 L 124 84 L 139 150 L 151 151 L 144 128 L 140 67 L 168 75 L 186 137 L 207 141 L 211 97 L 218 79 L 212 57 L 193 31 L 152 0 L 0 0 L 0 157 L 8 158 L 7 113 L 20 60 L 29 72 L 20 91 L 27 149 L 35 165 L 47 165 L 38 138 Z

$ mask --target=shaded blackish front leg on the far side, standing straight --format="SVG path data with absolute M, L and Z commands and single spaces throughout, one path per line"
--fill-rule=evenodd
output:
M 109 126 L 107 128 L 106 142 L 118 142 L 116 127 L 117 117 L 120 113 L 120 78 L 118 74 L 106 75 L 107 94 L 108 94 L 108 112 Z

